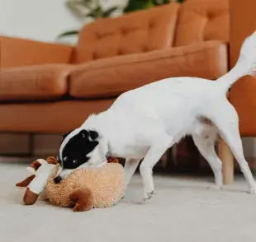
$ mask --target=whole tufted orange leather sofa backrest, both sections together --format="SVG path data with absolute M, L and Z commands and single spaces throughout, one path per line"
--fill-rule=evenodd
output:
M 72 63 L 230 40 L 229 0 L 187 0 L 107 18 L 84 26 Z

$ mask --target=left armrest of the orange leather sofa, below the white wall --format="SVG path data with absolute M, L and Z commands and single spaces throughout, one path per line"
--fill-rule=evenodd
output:
M 0 66 L 69 63 L 73 47 L 35 40 L 0 36 Z

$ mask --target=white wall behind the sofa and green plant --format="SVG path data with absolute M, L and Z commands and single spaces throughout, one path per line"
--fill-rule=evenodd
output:
M 0 0 L 0 33 L 33 40 L 55 41 L 65 30 L 82 23 L 65 7 L 65 0 Z M 105 6 L 126 0 L 102 0 Z

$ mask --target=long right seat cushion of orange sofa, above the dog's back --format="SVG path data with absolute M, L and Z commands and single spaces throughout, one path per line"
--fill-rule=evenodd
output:
M 111 97 L 167 77 L 214 80 L 225 72 L 226 45 L 211 40 L 85 63 L 70 74 L 70 95 L 76 98 Z

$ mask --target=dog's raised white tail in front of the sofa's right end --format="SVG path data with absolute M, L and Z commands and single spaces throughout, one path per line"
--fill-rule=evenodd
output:
M 216 83 L 226 92 L 235 81 L 247 75 L 256 76 L 256 30 L 244 40 L 235 67 L 223 77 L 220 77 Z

